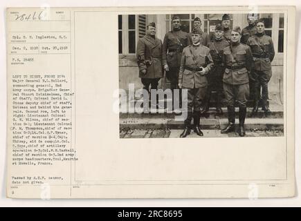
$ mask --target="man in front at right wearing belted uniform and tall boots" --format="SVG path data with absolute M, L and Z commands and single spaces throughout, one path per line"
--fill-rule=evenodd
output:
M 230 46 L 224 49 L 223 62 L 224 94 L 228 104 L 228 125 L 221 133 L 235 131 L 235 100 L 239 105 L 239 136 L 244 137 L 244 120 L 246 118 L 246 102 L 249 96 L 248 74 L 253 68 L 253 57 L 249 46 L 240 43 L 241 29 L 237 26 L 231 32 Z

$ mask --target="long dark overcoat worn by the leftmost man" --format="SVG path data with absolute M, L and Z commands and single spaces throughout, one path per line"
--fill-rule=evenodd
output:
M 163 65 L 166 64 L 162 56 L 162 41 L 156 37 L 145 35 L 138 41 L 136 56 L 139 77 L 144 88 L 149 90 L 149 84 L 151 84 L 152 89 L 157 89 L 158 80 L 163 77 Z M 142 70 L 146 70 L 145 75 Z

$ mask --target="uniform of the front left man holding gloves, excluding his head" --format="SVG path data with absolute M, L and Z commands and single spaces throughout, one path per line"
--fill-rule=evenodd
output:
M 199 115 L 201 108 L 201 100 L 206 95 L 208 86 L 207 73 L 212 66 L 212 57 L 210 49 L 206 46 L 193 44 L 184 48 L 181 67 L 179 72 L 179 84 L 182 88 L 188 89 L 188 118 L 185 124 L 189 125 L 192 117 L 192 108 L 194 115 Z M 206 74 L 201 75 L 198 71 L 199 68 L 204 68 Z

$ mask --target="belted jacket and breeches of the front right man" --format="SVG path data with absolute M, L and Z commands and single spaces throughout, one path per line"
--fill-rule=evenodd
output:
M 249 46 L 231 44 L 224 48 L 223 63 L 226 66 L 224 73 L 224 94 L 228 106 L 246 107 L 249 95 L 248 73 L 253 68 L 253 57 Z

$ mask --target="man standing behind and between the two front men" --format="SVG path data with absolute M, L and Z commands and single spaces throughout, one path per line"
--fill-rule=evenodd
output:
M 215 35 L 212 39 L 212 42 L 208 44 L 214 66 L 212 66 L 210 74 L 208 75 L 208 90 L 201 113 L 206 113 L 207 111 L 209 111 L 210 97 L 213 90 L 216 91 L 215 100 L 217 114 L 223 113 L 223 111 L 221 110 L 221 97 L 224 94 L 223 76 L 225 68 L 222 64 L 222 57 L 224 54 L 224 48 L 229 46 L 228 41 L 224 40 L 223 36 L 224 29 L 221 24 L 217 24 L 217 26 L 215 26 Z

